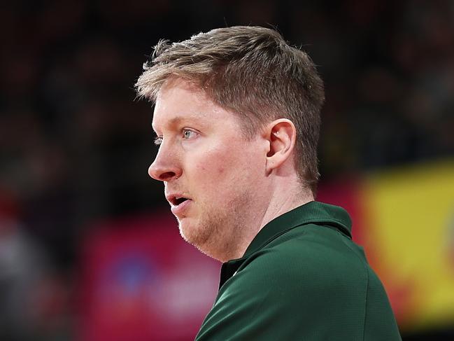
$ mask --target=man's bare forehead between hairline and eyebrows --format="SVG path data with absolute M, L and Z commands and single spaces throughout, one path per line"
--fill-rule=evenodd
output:
M 156 97 L 153 129 L 158 131 L 187 122 L 211 125 L 228 122 L 241 124 L 232 111 L 215 104 L 204 90 L 193 83 L 180 78 L 166 81 Z

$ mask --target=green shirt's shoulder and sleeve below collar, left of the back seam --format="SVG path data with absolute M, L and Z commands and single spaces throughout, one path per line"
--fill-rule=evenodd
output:
M 358 250 L 317 225 L 277 237 L 220 288 L 197 340 L 360 340 L 370 268 Z M 390 315 L 375 307 L 381 321 Z

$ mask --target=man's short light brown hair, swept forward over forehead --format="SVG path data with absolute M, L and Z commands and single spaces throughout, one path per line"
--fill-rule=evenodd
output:
M 323 82 L 311 58 L 286 43 L 281 34 L 264 27 L 235 26 L 177 43 L 161 40 L 143 69 L 136 83 L 140 97 L 155 102 L 165 81 L 183 78 L 236 113 L 250 139 L 272 120 L 292 120 L 297 130 L 297 174 L 315 195 Z

